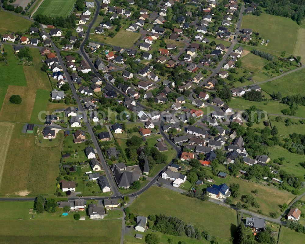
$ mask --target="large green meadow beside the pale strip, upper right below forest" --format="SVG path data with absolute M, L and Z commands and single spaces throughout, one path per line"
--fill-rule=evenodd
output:
M 243 28 L 253 29 L 259 32 L 263 39 L 270 40 L 268 46 L 259 44 L 259 47 L 293 53 L 299 26 L 290 18 L 262 13 L 261 16 L 252 14 L 243 16 L 241 29 Z

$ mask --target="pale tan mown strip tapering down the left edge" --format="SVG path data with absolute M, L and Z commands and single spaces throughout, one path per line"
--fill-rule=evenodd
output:
M 1 126 L 8 126 L 10 128 L 8 128 L 6 130 L 6 133 L 3 133 L 1 135 L 2 147 L 0 147 L 0 148 L 1 148 L 2 153 L 0 153 L 0 185 L 1 185 L 1 180 L 2 180 L 2 174 L 3 174 L 3 170 L 4 170 L 6 155 L 9 150 L 9 142 L 11 140 L 13 129 L 14 129 L 14 124 L 9 123 L 9 122 L 0 122 L 0 127 Z

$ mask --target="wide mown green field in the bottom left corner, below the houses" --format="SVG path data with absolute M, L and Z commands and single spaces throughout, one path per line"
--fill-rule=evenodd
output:
M 1 243 L 120 243 L 122 220 L 96 221 L 87 216 L 77 221 L 72 215 L 46 212 L 30 219 L 29 208 L 33 202 L 0 203 Z

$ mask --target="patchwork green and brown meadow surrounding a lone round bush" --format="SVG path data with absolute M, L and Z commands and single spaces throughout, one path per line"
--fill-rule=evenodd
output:
M 41 56 L 39 49 L 30 49 L 34 66 L 21 66 L 17 64 L 17 58 L 13 55 L 11 46 L 5 48 L 8 49 L 9 68 L 5 66 L 3 66 L 3 68 L 9 71 L 7 75 L 12 75 L 14 77 L 16 77 L 15 73 L 20 75 L 20 80 L 16 79 L 17 82 L 15 84 L 15 81 L 11 81 L 11 77 L 7 76 L 7 78 L 5 78 L 7 79 L 7 82 L 11 83 L 8 83 L 10 86 L 7 88 L 0 118 L 14 122 L 35 122 L 42 124 L 43 120 L 40 121 L 38 119 L 38 114 L 40 111 L 44 111 L 47 108 L 51 85 L 47 74 L 40 70 Z M 12 68 L 15 70 L 10 70 L 11 64 Z M 0 69 L 1 68 L 2 67 L 0 67 Z M 19 72 L 22 72 L 22 75 L 21 73 L 19 74 Z M 17 76 L 17 78 L 19 77 Z M 27 85 L 22 84 L 22 86 L 19 86 L 18 82 L 22 81 L 25 81 Z M 38 93 L 36 93 L 37 89 Z M 12 104 L 9 102 L 9 97 L 13 94 L 19 94 L 21 96 L 21 104 Z M 11 113 L 11 111 L 15 112 Z

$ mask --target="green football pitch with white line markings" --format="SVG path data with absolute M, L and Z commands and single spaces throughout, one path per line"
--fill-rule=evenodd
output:
M 34 16 L 38 14 L 45 14 L 51 17 L 69 16 L 75 2 L 76 0 L 44 0 L 34 13 Z

